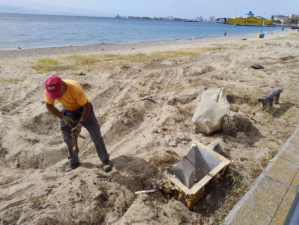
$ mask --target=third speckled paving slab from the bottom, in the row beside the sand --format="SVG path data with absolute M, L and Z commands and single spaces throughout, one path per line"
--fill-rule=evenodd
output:
M 266 176 L 289 187 L 298 170 L 298 164 L 278 157 L 277 160 L 273 162 L 271 168 L 266 172 Z

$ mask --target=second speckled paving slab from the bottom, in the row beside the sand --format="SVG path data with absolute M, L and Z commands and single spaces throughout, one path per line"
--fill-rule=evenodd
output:
M 258 209 L 274 216 L 288 188 L 268 177 L 263 177 L 248 197 Z

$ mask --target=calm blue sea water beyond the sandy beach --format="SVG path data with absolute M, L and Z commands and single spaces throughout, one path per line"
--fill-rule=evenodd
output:
M 0 13 L 0 50 L 257 34 L 261 27 L 91 16 Z M 281 30 L 264 27 L 263 32 Z M 224 37 L 223 37 L 224 38 Z

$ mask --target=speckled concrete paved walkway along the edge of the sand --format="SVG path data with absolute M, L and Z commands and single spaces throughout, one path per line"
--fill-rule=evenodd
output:
M 223 224 L 282 225 L 299 184 L 299 127 L 274 156 Z

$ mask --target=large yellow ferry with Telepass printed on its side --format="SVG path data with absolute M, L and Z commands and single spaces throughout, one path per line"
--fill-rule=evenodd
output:
M 242 26 L 262 26 L 264 22 L 264 26 L 266 27 L 275 27 L 272 23 L 272 20 L 261 18 L 260 16 L 254 17 L 254 14 L 250 11 L 246 13 L 246 16 L 236 16 L 233 18 L 224 18 L 225 24 L 234 24 L 234 25 L 242 25 Z

